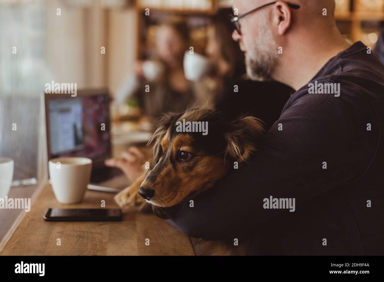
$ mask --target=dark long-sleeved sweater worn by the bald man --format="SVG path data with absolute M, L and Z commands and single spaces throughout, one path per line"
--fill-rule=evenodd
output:
M 358 42 L 315 81 L 340 83 L 339 97 L 296 91 L 250 163 L 169 222 L 192 237 L 247 237 L 252 254 L 384 255 L 384 66 Z M 270 196 L 295 198 L 295 211 L 266 209 Z

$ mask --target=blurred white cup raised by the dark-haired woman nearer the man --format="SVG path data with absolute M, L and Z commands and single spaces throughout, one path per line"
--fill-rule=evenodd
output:
M 183 66 L 185 78 L 190 81 L 199 81 L 212 69 L 207 58 L 197 53 L 191 54 L 189 51 L 184 54 Z

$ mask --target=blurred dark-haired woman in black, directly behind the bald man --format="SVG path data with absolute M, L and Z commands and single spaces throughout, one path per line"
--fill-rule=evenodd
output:
M 215 65 L 216 109 L 229 118 L 253 115 L 263 120 L 268 130 L 280 117 L 293 89 L 279 82 L 247 79 L 244 54 L 232 40 L 231 13 L 232 9 L 220 9 L 208 29 L 205 53 Z

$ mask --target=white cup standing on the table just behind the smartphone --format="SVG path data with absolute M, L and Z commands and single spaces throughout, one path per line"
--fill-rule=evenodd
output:
M 57 201 L 62 204 L 83 201 L 91 179 L 92 160 L 79 157 L 54 158 L 48 166 Z

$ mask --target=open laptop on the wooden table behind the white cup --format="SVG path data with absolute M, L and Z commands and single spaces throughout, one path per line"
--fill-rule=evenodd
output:
M 124 176 L 121 170 L 104 165 L 112 156 L 107 89 L 78 91 L 76 97 L 45 94 L 45 116 L 48 160 L 90 158 L 93 164 L 88 189 L 118 193 L 127 187 L 125 177 L 126 181 L 109 181 Z

